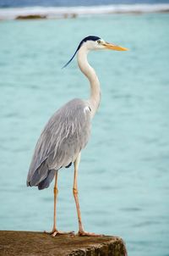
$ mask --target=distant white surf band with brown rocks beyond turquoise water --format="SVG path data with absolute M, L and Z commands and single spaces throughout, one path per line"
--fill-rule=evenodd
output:
M 169 3 L 114 4 L 76 7 L 0 8 L 0 19 L 66 19 L 98 14 L 169 13 Z

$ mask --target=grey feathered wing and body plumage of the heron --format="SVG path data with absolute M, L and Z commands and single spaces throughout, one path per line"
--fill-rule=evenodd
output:
M 53 170 L 74 162 L 89 136 L 90 108 L 83 100 L 74 99 L 58 109 L 35 146 L 27 185 L 38 186 L 48 175 L 54 176 Z

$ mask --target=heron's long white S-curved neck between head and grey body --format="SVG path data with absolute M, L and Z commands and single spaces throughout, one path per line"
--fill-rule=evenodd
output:
M 92 117 L 95 115 L 96 110 L 99 107 L 101 101 L 101 89 L 100 82 L 95 74 L 95 70 L 90 66 L 87 60 L 87 54 L 89 51 L 85 47 L 81 47 L 78 51 L 78 64 L 79 69 L 87 76 L 90 81 L 90 104 Z

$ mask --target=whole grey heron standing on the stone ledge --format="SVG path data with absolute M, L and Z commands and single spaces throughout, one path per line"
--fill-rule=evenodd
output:
M 54 214 L 53 228 L 50 234 L 56 237 L 68 232 L 57 230 L 57 174 L 58 170 L 68 168 L 74 164 L 74 200 L 79 222 L 79 236 L 97 236 L 87 232 L 82 224 L 79 196 L 78 196 L 78 171 L 82 149 L 90 138 L 91 120 L 95 116 L 101 102 L 101 87 L 95 70 L 90 66 L 87 55 L 91 50 L 109 49 L 127 51 L 128 48 L 117 46 L 101 39 L 99 36 L 86 36 L 77 47 L 74 55 L 65 68 L 77 54 L 79 70 L 90 82 L 90 98 L 74 98 L 58 109 L 48 120 L 41 136 L 39 137 L 30 170 L 27 176 L 27 186 L 38 186 L 38 189 L 47 188 L 54 179 Z

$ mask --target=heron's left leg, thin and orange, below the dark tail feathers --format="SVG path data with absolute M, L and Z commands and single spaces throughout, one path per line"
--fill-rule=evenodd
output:
M 53 188 L 54 192 L 54 214 L 53 214 L 53 228 L 50 234 L 52 237 L 56 237 L 57 235 L 64 235 L 64 234 L 74 234 L 73 231 L 70 232 L 64 232 L 64 231 L 58 231 L 57 230 L 57 194 L 58 194 L 58 189 L 57 189 L 57 172 L 55 175 L 55 185 Z

